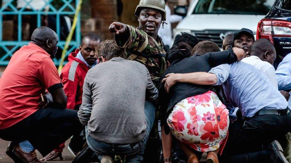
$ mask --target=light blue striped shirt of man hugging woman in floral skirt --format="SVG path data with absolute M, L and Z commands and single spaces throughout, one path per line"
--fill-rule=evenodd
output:
M 261 109 L 286 109 L 287 101 L 270 80 L 256 67 L 244 63 L 222 64 L 212 68 L 227 100 L 239 107 L 244 117 L 252 117 Z

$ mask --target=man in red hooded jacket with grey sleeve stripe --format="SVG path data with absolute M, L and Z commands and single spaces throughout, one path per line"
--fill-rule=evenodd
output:
M 64 66 L 60 75 L 65 94 L 68 98 L 66 106 L 68 109 L 79 110 L 82 104 L 84 78 L 88 70 L 97 64 L 94 58 L 95 47 L 100 42 L 101 39 L 97 34 L 86 34 L 82 39 L 79 49 L 76 49 L 75 52 L 70 53 L 68 56 L 69 62 Z M 74 156 L 83 149 L 83 144 L 86 141 L 84 138 L 80 135 L 72 137 L 68 149 Z M 48 161 L 58 156 L 62 159 L 61 152 L 64 147 L 63 143 L 41 160 Z

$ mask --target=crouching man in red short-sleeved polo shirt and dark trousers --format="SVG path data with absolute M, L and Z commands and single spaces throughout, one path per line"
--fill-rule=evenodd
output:
M 35 29 L 0 78 L 0 138 L 13 142 L 7 154 L 15 162 L 39 162 L 35 149 L 45 156 L 83 128 L 77 111 L 65 109 L 67 98 L 52 61 L 57 44 L 52 29 Z

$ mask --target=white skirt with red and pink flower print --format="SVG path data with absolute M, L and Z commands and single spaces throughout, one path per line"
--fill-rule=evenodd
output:
M 208 91 L 178 102 L 167 123 L 182 143 L 196 151 L 214 151 L 227 136 L 228 110 L 216 93 Z

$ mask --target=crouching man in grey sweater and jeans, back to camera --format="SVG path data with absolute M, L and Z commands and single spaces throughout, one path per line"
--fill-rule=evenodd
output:
M 87 143 L 101 163 L 103 155 L 126 155 L 126 162 L 141 162 L 154 123 L 151 105 L 158 102 L 157 88 L 147 68 L 126 60 L 125 50 L 114 40 L 101 42 L 95 53 L 102 63 L 88 71 L 78 111 Z M 145 100 L 150 103 L 146 107 Z

